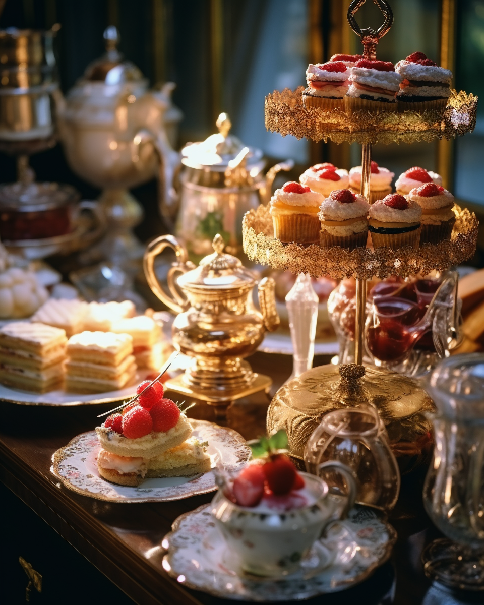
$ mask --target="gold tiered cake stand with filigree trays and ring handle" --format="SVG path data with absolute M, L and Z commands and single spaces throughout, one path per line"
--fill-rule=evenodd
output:
M 364 57 L 374 59 L 378 39 L 389 30 L 393 14 L 387 2 L 376 4 L 385 15 L 385 23 L 374 31 L 361 30 L 354 15 L 364 0 L 355 0 L 348 9 L 348 21 L 361 36 Z M 302 90 L 274 91 L 266 97 L 266 128 L 283 136 L 292 134 L 316 142 L 332 140 L 336 143 L 361 143 L 362 183 L 361 193 L 370 190 L 371 149 L 373 143 L 405 142 L 420 140 L 451 139 L 476 126 L 477 97 L 461 91 L 451 91 L 445 110 L 440 113 L 427 110 L 424 113 L 383 111 L 370 114 L 367 111 L 345 113 L 337 108 L 324 111 L 321 108 L 306 109 L 302 104 Z M 450 240 L 435 246 L 424 244 L 418 249 L 404 246 L 397 250 L 378 247 L 374 250 L 359 247 L 353 250 L 339 246 L 323 250 L 318 244 L 302 245 L 297 242 L 283 243 L 273 237 L 272 218 L 269 208 L 261 205 L 246 213 L 243 219 L 244 252 L 250 260 L 266 264 L 273 269 L 293 273 L 307 273 L 312 277 L 329 275 L 341 279 L 356 279 L 355 362 L 352 366 L 323 366 L 306 371 L 284 385 L 276 393 L 267 415 L 270 434 L 280 428 L 287 431 L 293 455 L 302 457 L 304 444 L 325 411 L 356 401 L 368 401 L 376 405 L 387 425 L 393 451 L 406 456 L 402 465 L 413 466 L 423 459 L 425 435 L 430 425 L 424 412 L 432 402 L 417 382 L 399 374 L 379 368 L 363 368 L 363 333 L 365 322 L 366 280 L 373 276 L 390 275 L 407 277 L 432 270 L 443 271 L 473 256 L 477 243 L 477 218 L 467 209 L 456 206 L 456 224 Z M 303 311 L 301 310 L 301 313 Z M 302 321 L 299 327 L 309 325 Z M 295 326 L 298 329 L 298 326 Z M 428 445 L 428 443 L 427 443 Z M 413 457 L 408 461 L 408 456 Z M 402 462 L 400 460 L 400 462 Z

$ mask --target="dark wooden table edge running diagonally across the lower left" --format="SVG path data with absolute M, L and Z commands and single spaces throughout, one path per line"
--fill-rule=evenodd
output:
M 77 504 L 76 499 L 69 499 L 66 502 L 64 492 L 67 488 L 64 486 L 59 488 L 54 476 L 49 479 L 50 477 L 38 476 L 37 473 L 32 472 L 28 465 L 22 464 L 21 459 L 16 457 L 14 460 L 0 441 L 2 483 L 135 603 L 171 605 L 179 602 L 200 605 L 200 601 L 183 590 L 180 584 L 169 577 L 162 568 L 143 560 L 128 545 L 114 539 L 113 532 L 87 514 L 82 506 Z M 80 495 L 77 497 L 83 498 Z M 90 526 L 94 525 L 95 531 L 91 532 L 91 535 L 99 538 L 97 540 L 99 546 L 96 541 L 89 540 L 87 535 L 79 532 L 76 528 L 79 520 L 85 520 Z M 76 535 L 75 543 L 74 540 L 67 538 L 69 532 L 74 532 Z M 103 554 L 103 549 L 100 548 L 101 545 L 105 547 L 106 541 L 112 547 L 109 557 Z M 126 568 L 122 563 L 123 560 L 131 561 L 131 569 Z M 154 586 L 156 589 L 148 592 L 145 586 Z

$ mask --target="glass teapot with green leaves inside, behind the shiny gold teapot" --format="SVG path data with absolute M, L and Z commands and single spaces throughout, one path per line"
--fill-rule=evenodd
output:
M 218 132 L 181 150 L 180 210 L 175 234 L 183 238 L 190 258 L 198 262 L 211 252 L 220 234 L 227 252 L 241 255 L 242 218 L 252 208 L 270 200 L 277 172 L 290 170 L 294 162 L 276 164 L 263 175 L 261 149 L 246 147 L 233 134 L 226 113 L 218 116 Z

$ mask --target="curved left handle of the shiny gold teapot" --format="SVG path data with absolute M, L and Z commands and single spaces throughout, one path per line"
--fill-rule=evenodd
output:
M 165 248 L 171 248 L 177 260 L 172 264 L 168 270 L 168 289 L 170 293 L 163 290 L 157 276 L 154 272 L 155 258 L 165 250 Z M 182 296 L 178 291 L 177 283 L 175 280 L 175 273 L 186 273 L 195 268 L 195 265 L 188 260 L 188 252 L 185 246 L 182 246 L 180 242 L 173 235 L 160 235 L 150 241 L 148 247 L 146 247 L 145 255 L 143 256 L 143 269 L 145 271 L 146 281 L 152 292 L 158 296 L 160 301 L 166 304 L 169 309 L 175 313 L 183 313 L 189 307 L 188 299 Z

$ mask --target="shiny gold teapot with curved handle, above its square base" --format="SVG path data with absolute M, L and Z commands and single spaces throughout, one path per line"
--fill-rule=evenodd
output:
M 212 245 L 215 252 L 195 267 L 175 237 L 161 235 L 148 244 L 143 264 L 151 290 L 178 313 L 172 326 L 174 345 L 195 358 L 182 378 L 189 390 L 180 392 L 224 392 L 229 393 L 224 399 L 238 399 L 235 395 L 247 391 L 258 377 L 243 358 L 255 352 L 266 330 L 272 332 L 279 325 L 275 282 L 264 278 L 258 284 L 259 312 L 252 301 L 257 283 L 253 273 L 223 252 L 221 235 L 215 235 Z M 168 272 L 169 293 L 154 272 L 155 257 L 166 247 L 177 256 Z

